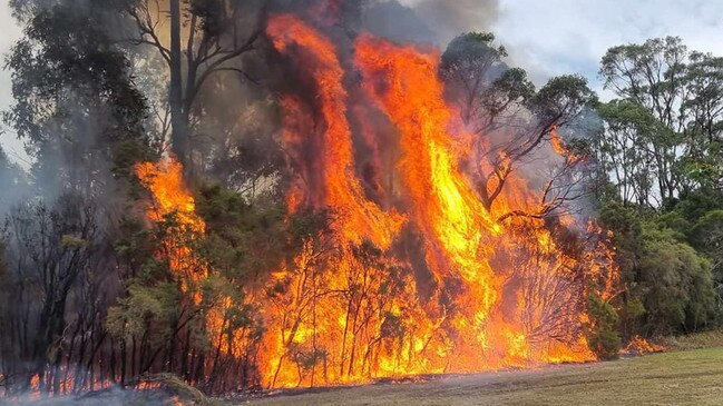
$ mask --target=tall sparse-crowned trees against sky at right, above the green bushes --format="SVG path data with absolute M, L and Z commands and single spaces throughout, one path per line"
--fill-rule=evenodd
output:
M 636 118 L 627 118 L 628 123 L 637 120 L 637 130 L 646 127 L 633 136 L 645 147 L 651 170 L 646 176 L 655 181 L 655 201 L 649 205 L 665 205 L 698 185 L 720 187 L 721 58 L 690 52 L 680 38 L 657 38 L 610 48 L 603 57 L 600 77 L 605 88 L 621 98 L 618 108 L 639 107 Z M 612 118 L 609 108 L 606 112 Z

